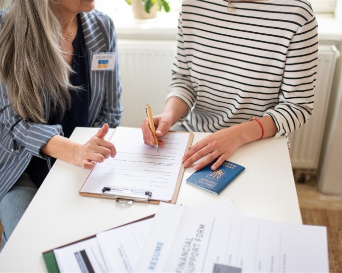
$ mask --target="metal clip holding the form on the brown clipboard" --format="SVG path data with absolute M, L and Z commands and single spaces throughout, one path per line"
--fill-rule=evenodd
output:
M 124 190 L 128 190 L 128 189 L 120 190 L 120 189 L 113 189 L 110 187 L 104 187 L 102 189 L 101 196 L 106 197 L 106 198 L 113 198 L 113 199 L 116 199 L 116 202 L 126 203 L 129 205 L 132 205 L 133 201 L 149 202 L 152 196 L 152 192 L 147 192 L 147 191 L 146 192 L 134 192 L 132 190 L 128 190 L 132 192 L 132 194 L 130 195 L 124 195 L 120 193 Z

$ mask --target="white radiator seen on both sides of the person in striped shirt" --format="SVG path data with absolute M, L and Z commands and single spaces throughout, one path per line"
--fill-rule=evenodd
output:
M 118 52 L 124 111 L 120 125 L 140 127 L 146 117 L 146 103 L 151 105 L 153 114 L 163 110 L 175 42 L 118 40 Z M 334 46 L 319 47 L 314 114 L 307 124 L 290 135 L 293 168 L 317 168 L 338 55 Z

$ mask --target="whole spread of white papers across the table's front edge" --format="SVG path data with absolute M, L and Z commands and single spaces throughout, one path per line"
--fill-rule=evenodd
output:
M 329 272 L 325 227 L 161 203 L 155 217 L 54 250 L 61 272 Z

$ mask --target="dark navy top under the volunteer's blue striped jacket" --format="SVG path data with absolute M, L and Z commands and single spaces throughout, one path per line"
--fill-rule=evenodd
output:
M 50 115 L 50 120 L 48 121 L 48 124 L 51 125 L 60 124 L 63 128 L 65 137 L 70 137 L 77 126 L 89 126 L 89 105 L 91 98 L 90 74 L 87 50 L 79 14 L 77 14 L 77 22 L 77 34 L 72 42 L 74 54 L 71 61 L 71 67 L 74 73 L 70 74 L 69 79 L 73 86 L 79 86 L 81 89 L 69 90 L 71 95 L 70 109 L 66 109 L 62 116 L 60 109 L 57 108 L 56 111 Z M 51 158 L 51 165 L 53 165 L 55 161 L 55 158 Z M 25 171 L 29 174 L 32 182 L 39 188 L 48 175 L 49 168 L 44 159 L 34 156 Z

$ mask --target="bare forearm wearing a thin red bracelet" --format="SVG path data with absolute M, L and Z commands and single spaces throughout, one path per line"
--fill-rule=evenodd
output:
M 258 121 L 261 123 L 264 129 L 263 138 L 276 135 L 277 126 L 271 117 L 264 116 L 259 118 Z M 241 145 L 258 140 L 262 136 L 261 126 L 255 120 L 234 125 L 232 128 L 239 132 Z

